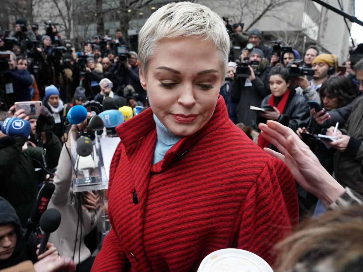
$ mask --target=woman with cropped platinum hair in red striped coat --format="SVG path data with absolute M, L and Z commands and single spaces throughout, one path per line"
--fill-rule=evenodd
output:
M 150 108 L 117 127 L 112 229 L 92 271 L 196 271 L 233 247 L 273 263 L 297 223 L 295 181 L 229 120 L 219 96 L 228 53 L 223 20 L 199 4 L 167 4 L 140 30 Z

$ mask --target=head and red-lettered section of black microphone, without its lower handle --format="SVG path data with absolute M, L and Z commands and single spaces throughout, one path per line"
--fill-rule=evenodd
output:
M 47 182 L 40 190 L 37 198 L 37 202 L 30 213 L 30 223 L 37 224 L 40 220 L 41 215 L 45 212 L 48 206 L 49 200 L 56 189 L 56 186 L 52 182 Z

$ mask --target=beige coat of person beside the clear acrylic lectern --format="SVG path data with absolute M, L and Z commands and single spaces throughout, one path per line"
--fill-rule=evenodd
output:
M 68 148 L 69 153 L 70 148 Z M 59 228 L 50 235 L 49 242 L 53 243 L 61 256 L 73 257 L 74 244 L 76 243 L 76 230 L 78 221 L 78 199 L 72 189 L 72 164 L 65 145 L 59 158 L 57 171 L 54 177 L 56 189 L 50 199 L 48 209 L 55 208 L 61 213 L 62 220 Z M 97 217 L 95 211 L 89 211 L 82 206 L 83 228 L 81 236 L 81 224 L 79 224 L 76 253 L 74 262 L 82 263 L 91 256 L 91 252 L 84 243 L 84 238 L 96 226 Z M 81 254 L 78 260 L 79 240 L 81 240 Z

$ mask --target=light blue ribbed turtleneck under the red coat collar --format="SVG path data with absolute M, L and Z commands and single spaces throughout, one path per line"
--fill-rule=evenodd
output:
M 152 164 L 156 164 L 164 158 L 165 153 L 183 136 L 175 135 L 172 133 L 154 114 L 154 121 L 156 123 L 156 140 L 154 158 Z

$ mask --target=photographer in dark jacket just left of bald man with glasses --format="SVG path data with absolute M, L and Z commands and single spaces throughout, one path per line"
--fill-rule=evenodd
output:
M 87 98 L 92 98 L 101 90 L 99 82 L 103 78 L 103 69 L 101 63 L 96 63 L 92 57 L 87 58 L 86 75 L 85 75 L 85 89 Z

